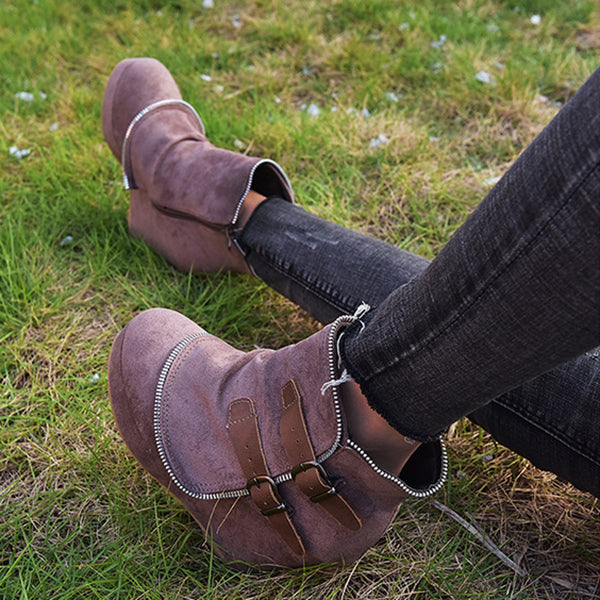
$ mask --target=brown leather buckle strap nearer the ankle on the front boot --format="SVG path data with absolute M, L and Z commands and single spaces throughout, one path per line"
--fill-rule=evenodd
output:
M 292 465 L 292 477 L 312 502 L 322 506 L 340 525 L 357 530 L 362 523 L 352 507 L 329 481 L 323 465 L 317 462 L 296 382 L 291 379 L 281 389 L 281 439 Z

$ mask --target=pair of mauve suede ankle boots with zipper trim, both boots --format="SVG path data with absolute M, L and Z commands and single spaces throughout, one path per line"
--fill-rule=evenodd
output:
M 234 236 L 248 193 L 294 199 L 276 163 L 215 148 L 153 59 L 117 65 L 102 126 L 131 191 L 130 233 L 185 271 L 249 272 Z M 337 340 L 355 318 L 243 353 L 152 309 L 115 340 L 109 384 L 123 439 L 228 563 L 352 562 L 404 499 L 441 487 L 440 441 L 405 444 L 401 472 L 389 472 L 352 439 Z

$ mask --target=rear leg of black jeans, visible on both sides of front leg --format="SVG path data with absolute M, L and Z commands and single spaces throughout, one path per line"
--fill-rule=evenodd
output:
M 430 264 L 278 198 L 256 209 L 240 241 L 261 279 L 324 324 L 361 302 L 377 307 Z M 600 348 L 469 418 L 536 466 L 600 497 Z

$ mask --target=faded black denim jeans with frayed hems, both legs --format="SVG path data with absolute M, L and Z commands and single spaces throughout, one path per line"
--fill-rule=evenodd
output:
M 241 236 L 258 276 L 322 322 L 379 306 L 345 360 L 400 431 L 425 439 L 481 406 L 471 418 L 498 441 L 597 496 L 600 353 L 573 357 L 600 341 L 598 85 L 596 72 L 433 267 L 276 199 Z

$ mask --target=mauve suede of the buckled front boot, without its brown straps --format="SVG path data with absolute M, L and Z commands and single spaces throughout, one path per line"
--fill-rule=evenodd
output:
M 135 317 L 113 344 L 110 396 L 126 444 L 141 465 L 184 504 L 223 560 L 237 568 L 248 563 L 297 567 L 352 562 L 384 534 L 407 495 L 347 445 L 343 413 L 342 441 L 335 445 L 338 422 L 332 391 L 323 395 L 320 389 L 330 379 L 329 330 L 327 327 L 278 351 L 243 353 L 204 335 L 198 325 L 174 311 L 151 309 Z M 194 335 L 198 337 L 178 346 Z M 163 367 L 175 347 L 177 357 L 169 362 L 160 391 L 161 372 L 165 374 Z M 291 470 L 279 431 L 280 390 L 290 379 L 302 396 L 316 454 L 335 445 L 323 466 L 362 523 L 359 530 L 351 531 L 311 502 L 295 482 L 279 484 L 278 491 L 306 548 L 304 556 L 289 548 L 249 496 L 204 500 L 193 495 L 218 494 L 246 485 L 227 431 L 228 408 L 239 398 L 251 398 L 256 407 L 272 475 Z M 155 423 L 165 461 L 186 491 L 178 487 L 161 460 Z M 429 473 L 424 479 L 430 484 L 439 472 L 432 471 L 430 463 L 426 468 Z

